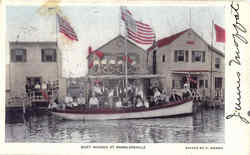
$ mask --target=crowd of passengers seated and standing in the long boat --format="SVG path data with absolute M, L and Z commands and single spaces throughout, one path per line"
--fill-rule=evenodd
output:
M 96 84 L 89 93 L 89 96 L 80 93 L 79 97 L 64 97 L 61 109 L 120 109 L 120 108 L 149 108 L 154 105 L 168 104 L 169 102 L 180 102 L 189 98 L 192 94 L 187 86 L 184 85 L 182 97 L 171 90 L 167 93 L 166 90 L 160 90 L 157 87 L 151 88 L 153 95 L 145 97 L 142 86 L 129 84 L 123 91 L 119 88 L 104 88 Z M 115 94 L 116 93 L 116 94 Z M 53 102 L 56 106 L 57 103 Z M 51 104 L 52 107 L 53 104 Z

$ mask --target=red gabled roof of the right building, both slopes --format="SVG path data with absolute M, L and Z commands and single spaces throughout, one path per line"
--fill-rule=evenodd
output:
M 167 45 L 169 45 L 170 43 L 172 43 L 173 41 L 175 41 L 177 38 L 179 38 L 181 35 L 183 35 L 185 32 L 187 32 L 187 31 L 189 31 L 189 30 L 191 30 L 192 32 L 194 32 L 195 35 L 197 35 L 198 38 L 201 39 L 201 40 L 208 46 L 209 49 L 211 49 L 213 52 L 215 52 L 215 53 L 217 53 L 217 54 L 219 54 L 219 55 L 225 57 L 225 55 L 224 55 L 223 52 L 221 52 L 220 50 L 216 49 L 215 47 L 212 47 L 211 45 L 209 45 L 209 44 L 208 44 L 199 34 L 197 34 L 197 33 L 196 33 L 193 29 L 191 29 L 191 28 L 186 29 L 186 30 L 181 31 L 181 32 L 178 32 L 178 33 L 173 34 L 173 35 L 171 35 L 171 36 L 168 36 L 168 37 L 166 37 L 166 38 L 162 38 L 162 39 L 160 39 L 160 40 L 158 40 L 158 41 L 156 42 L 156 45 L 157 45 L 158 48 L 161 48 L 161 47 L 163 47 L 163 46 L 167 46 Z M 153 48 L 155 48 L 155 46 L 149 47 L 149 48 L 147 49 L 147 51 L 150 51 L 150 50 L 152 50 Z

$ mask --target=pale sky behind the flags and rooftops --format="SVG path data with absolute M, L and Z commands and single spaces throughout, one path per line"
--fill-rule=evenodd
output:
M 97 49 L 117 35 L 124 34 L 120 6 L 102 4 L 60 7 L 77 33 L 79 41 L 63 46 L 63 36 L 56 30 L 56 16 L 39 14 L 38 6 L 8 6 L 7 44 L 8 41 L 56 41 L 58 38 L 59 48 L 63 53 L 63 76 L 84 76 L 88 71 L 88 46 Z M 191 27 L 211 43 L 212 20 L 225 28 L 224 6 L 129 5 L 127 8 L 136 20 L 153 27 L 156 39 Z M 149 47 L 137 45 L 143 49 Z M 224 52 L 224 44 L 214 41 L 214 46 Z

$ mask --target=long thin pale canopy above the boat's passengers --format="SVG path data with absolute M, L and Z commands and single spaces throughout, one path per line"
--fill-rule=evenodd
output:
M 128 79 L 151 79 L 151 78 L 165 78 L 166 76 L 160 74 L 135 74 L 127 75 Z M 126 75 L 88 75 L 85 78 L 89 79 L 125 79 Z

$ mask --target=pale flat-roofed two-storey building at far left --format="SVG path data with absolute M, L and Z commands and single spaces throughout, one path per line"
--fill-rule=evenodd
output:
M 25 84 L 59 82 L 59 94 L 65 94 L 61 77 L 61 55 L 56 42 L 9 42 L 10 63 L 7 65 L 11 95 L 25 93 Z

